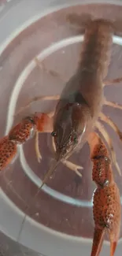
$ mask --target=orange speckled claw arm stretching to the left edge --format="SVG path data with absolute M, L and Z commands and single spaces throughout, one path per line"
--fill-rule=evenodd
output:
M 36 132 L 47 132 L 51 128 L 51 118 L 46 113 L 35 113 L 25 117 L 0 140 L 0 171 L 13 161 L 17 154 L 17 145 L 24 144 Z

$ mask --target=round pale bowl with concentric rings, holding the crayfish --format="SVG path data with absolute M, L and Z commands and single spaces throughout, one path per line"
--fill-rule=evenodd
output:
M 1 130 L 7 135 L 10 128 L 23 117 L 35 112 L 53 111 L 56 100 L 31 102 L 42 95 L 60 95 L 66 81 L 75 73 L 79 61 L 83 36 L 79 29 L 68 23 L 70 13 L 88 13 L 93 17 L 120 20 L 121 1 L 11 1 L 2 8 L 0 16 L 0 81 Z M 4 3 L 3 3 L 4 5 Z M 119 26 L 119 22 L 118 22 Z M 4 30 L 2 29 L 4 28 Z M 121 76 L 122 32 L 113 37 L 112 61 L 108 78 Z M 71 54 L 72 53 L 72 54 Z M 39 63 L 35 61 L 39 59 Z M 43 65 L 42 65 L 43 63 Z M 108 100 L 122 103 L 122 83 L 105 87 Z M 104 107 L 122 130 L 120 109 Z M 121 161 L 121 142 L 113 129 L 105 125 L 113 139 L 116 160 Z M 92 196 L 95 184 L 91 179 L 92 165 L 89 147 L 73 154 L 74 164 L 83 166 L 82 178 L 66 168 L 57 166 L 43 189 L 39 187 L 54 157 L 50 134 L 39 135 L 42 161 L 35 154 L 35 139 L 18 148 L 17 157 L 1 173 L 0 224 L 1 231 L 39 254 L 46 256 L 90 254 L 94 233 Z M 122 195 L 122 179 L 113 166 L 116 183 Z M 37 196 L 36 193 L 39 191 Z M 120 237 L 122 228 L 120 229 Z M 121 243 L 116 255 L 120 255 Z M 31 253 L 30 253 L 31 254 Z M 102 248 L 102 255 L 109 247 Z

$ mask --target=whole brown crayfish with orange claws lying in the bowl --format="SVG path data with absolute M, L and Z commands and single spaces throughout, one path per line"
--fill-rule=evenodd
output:
M 30 117 L 25 117 L 6 137 L 1 139 L 1 170 L 5 168 L 17 154 L 17 145 L 25 143 L 32 135 L 35 135 L 35 150 L 40 160 L 41 154 L 39 153 L 38 147 L 38 134 L 39 132 L 51 132 L 54 140 L 54 162 L 49 172 L 44 177 L 41 187 L 43 187 L 48 176 L 54 172 L 54 169 L 56 169 L 61 161 L 72 170 L 74 169 L 76 173 L 81 176 L 77 170 L 79 166 L 75 168 L 75 165 L 67 159 L 72 153 L 81 149 L 86 142 L 89 143 L 91 150 L 93 150 L 93 140 L 88 138 L 94 128 L 98 128 L 99 132 L 102 133 L 108 143 L 113 163 L 120 172 L 119 166 L 116 163 L 113 144 L 105 128 L 103 128 L 98 121 L 99 117 L 102 121 L 108 123 L 114 131 L 118 133 L 121 139 L 121 132 L 116 124 L 102 113 L 102 106 L 104 104 L 122 109 L 122 106 L 116 106 L 116 103 L 108 102 L 103 93 L 103 87 L 105 85 L 103 80 L 108 72 L 113 32 L 113 24 L 108 20 L 92 20 L 87 24 L 78 68 L 75 75 L 66 83 L 61 97 L 59 98 L 57 95 L 32 99 L 32 101 L 34 101 L 39 98 L 59 98 L 54 113 L 35 113 Z M 116 81 L 117 80 L 113 80 L 113 83 L 116 83 Z M 113 181 L 109 154 L 98 137 L 97 143 L 96 145 L 98 146 L 95 146 L 95 150 L 93 150 L 93 154 L 91 154 L 91 160 L 94 161 L 93 180 L 98 185 L 94 193 L 95 229 L 91 255 L 98 256 L 102 246 L 103 233 L 105 229 L 107 229 L 111 242 L 110 255 L 113 256 L 119 236 L 116 229 L 118 232 L 120 230 L 120 212 L 119 215 L 117 215 L 114 206 L 117 204 L 118 209 L 120 209 L 120 195 Z M 103 165 L 103 169 L 98 167 L 98 165 Z M 100 173 L 102 173 L 102 177 L 100 177 Z M 107 204 L 108 201 L 106 198 L 109 193 L 111 201 L 110 204 Z M 96 206 L 98 198 L 100 198 L 102 202 L 102 206 L 100 207 L 101 211 L 99 211 Z M 110 214 L 113 213 L 109 213 L 109 211 L 111 211 L 112 208 L 115 209 L 115 214 L 111 220 Z

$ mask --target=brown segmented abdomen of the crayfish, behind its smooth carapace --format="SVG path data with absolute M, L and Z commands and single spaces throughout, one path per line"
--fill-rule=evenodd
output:
M 107 20 L 91 21 L 84 35 L 80 68 L 98 73 L 102 80 L 108 72 L 112 35 L 113 24 Z

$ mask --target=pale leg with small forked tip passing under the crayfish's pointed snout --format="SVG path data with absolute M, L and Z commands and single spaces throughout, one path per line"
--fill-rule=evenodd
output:
M 55 151 L 54 139 L 52 139 L 52 146 L 53 146 L 53 150 Z M 68 167 L 68 169 L 71 169 L 73 172 L 75 172 L 79 177 L 82 177 L 82 174 L 79 172 L 79 169 L 83 169 L 82 166 L 73 164 L 72 161 L 68 161 L 67 159 L 61 160 L 61 162 L 66 167 Z

